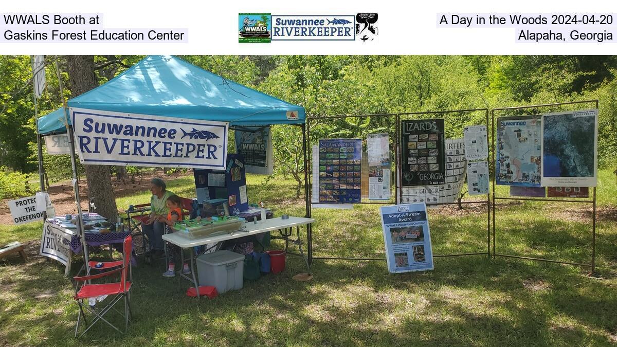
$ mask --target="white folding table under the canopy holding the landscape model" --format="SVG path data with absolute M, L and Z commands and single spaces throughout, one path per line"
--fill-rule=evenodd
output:
M 312 218 L 304 218 L 304 217 L 291 217 L 289 219 L 282 219 L 281 217 L 266 219 L 265 221 L 257 221 L 257 224 L 254 222 L 246 222 L 245 229 L 246 231 L 237 230 L 235 232 L 223 233 L 217 235 L 209 235 L 202 238 L 191 239 L 187 236 L 181 235 L 180 232 L 170 233 L 163 235 L 163 240 L 176 245 L 183 250 L 188 248 L 190 250 L 190 258 L 189 263 L 191 265 L 191 275 L 193 278 L 184 275 L 180 270 L 180 278 L 186 278 L 187 280 L 193 282 L 195 285 L 195 291 L 197 292 L 197 298 L 199 298 L 199 283 L 197 283 L 197 272 L 196 272 L 196 256 L 194 247 L 207 245 L 209 243 L 219 243 L 221 241 L 233 240 L 236 238 L 241 238 L 244 236 L 257 235 L 260 233 L 272 232 L 275 230 L 280 230 L 280 236 L 272 236 L 272 238 L 278 238 L 281 240 L 285 240 L 285 251 L 289 248 L 289 243 L 293 243 L 298 246 L 300 250 L 300 256 L 304 259 L 305 264 L 307 265 L 307 269 L 310 271 L 309 261 L 307 257 L 304 255 L 304 251 L 302 251 L 302 241 L 300 240 L 300 225 L 307 225 L 315 222 L 315 219 Z M 292 236 L 292 228 L 296 227 L 297 239 L 291 238 Z M 184 264 L 184 252 L 180 252 L 181 261 L 180 264 Z M 180 269 L 182 266 L 180 265 Z

